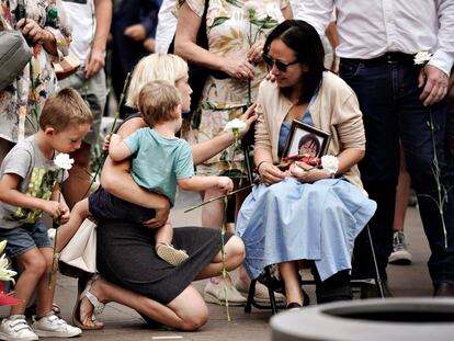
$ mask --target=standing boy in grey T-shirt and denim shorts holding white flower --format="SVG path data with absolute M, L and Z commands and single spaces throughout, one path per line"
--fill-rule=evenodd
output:
M 55 273 L 50 287 L 48 283 L 53 246 L 39 219 L 45 212 L 60 223 L 68 221 L 69 208 L 59 191 L 61 177 L 68 174 L 53 160 L 58 152 L 80 147 L 91 120 L 90 110 L 78 92 L 64 89 L 46 101 L 39 130 L 18 143 L 1 164 L 0 240 L 8 240 L 8 257 L 16 258 L 24 268 L 15 284 L 15 296 L 22 303 L 12 306 L 10 317 L 2 320 L 1 340 L 70 338 L 82 332 L 53 312 Z M 35 289 L 36 317 L 30 327 L 24 311 Z

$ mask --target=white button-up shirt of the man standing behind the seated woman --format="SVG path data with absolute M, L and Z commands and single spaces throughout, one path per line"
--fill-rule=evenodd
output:
M 429 50 L 433 53 L 429 64 L 451 73 L 453 0 L 302 0 L 295 18 L 322 35 L 333 5 L 338 9 L 340 57 L 371 59 L 387 52 L 412 55 Z

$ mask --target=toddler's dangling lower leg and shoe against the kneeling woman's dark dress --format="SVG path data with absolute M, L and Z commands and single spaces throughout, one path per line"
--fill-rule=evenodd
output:
M 174 266 L 184 262 L 189 255 L 184 250 L 177 250 L 171 245 L 173 239 L 172 225 L 168 220 L 166 225 L 158 228 L 155 232 L 156 253 L 169 264 Z

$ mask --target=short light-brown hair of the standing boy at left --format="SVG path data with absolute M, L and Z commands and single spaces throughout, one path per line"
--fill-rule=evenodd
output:
M 39 127 L 44 130 L 49 126 L 61 132 L 72 125 L 91 124 L 92 120 L 90 109 L 79 92 L 67 88 L 46 100 L 39 115 Z

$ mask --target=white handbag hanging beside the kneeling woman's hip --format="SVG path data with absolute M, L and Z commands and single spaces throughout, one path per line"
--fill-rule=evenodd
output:
M 59 271 L 70 277 L 97 272 L 97 224 L 86 218 L 77 232 L 61 250 Z

